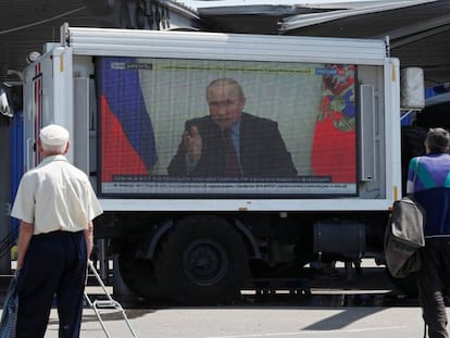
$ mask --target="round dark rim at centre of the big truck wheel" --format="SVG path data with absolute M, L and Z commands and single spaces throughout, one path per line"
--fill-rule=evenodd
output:
M 222 280 L 228 268 L 224 248 L 210 239 L 191 242 L 183 255 L 183 270 L 189 280 L 201 286 L 211 286 Z

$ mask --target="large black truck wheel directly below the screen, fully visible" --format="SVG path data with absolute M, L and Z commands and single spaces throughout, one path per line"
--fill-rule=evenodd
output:
M 178 222 L 161 243 L 155 274 L 185 304 L 217 304 L 239 295 L 248 274 L 242 238 L 225 220 L 192 216 Z

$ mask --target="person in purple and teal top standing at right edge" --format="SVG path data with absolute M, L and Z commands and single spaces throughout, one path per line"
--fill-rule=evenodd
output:
M 425 247 L 417 286 L 423 317 L 430 338 L 448 338 L 443 293 L 450 286 L 450 136 L 443 128 L 429 129 L 426 154 L 409 165 L 407 192 L 426 211 Z

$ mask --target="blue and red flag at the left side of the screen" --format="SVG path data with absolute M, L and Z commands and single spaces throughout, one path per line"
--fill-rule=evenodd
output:
M 133 58 L 98 58 L 101 180 L 113 175 L 148 175 L 157 163 L 153 127 Z

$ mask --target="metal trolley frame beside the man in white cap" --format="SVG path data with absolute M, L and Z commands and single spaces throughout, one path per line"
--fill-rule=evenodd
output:
M 111 297 L 111 293 L 108 291 L 107 287 L 104 286 L 103 280 L 101 279 L 99 273 L 96 270 L 96 266 L 93 266 L 92 261 L 90 261 L 90 260 L 88 261 L 88 271 L 89 270 L 93 273 L 93 275 L 96 276 L 98 283 L 102 287 L 103 292 L 107 296 L 107 299 L 105 300 L 93 300 L 93 301 L 91 301 L 89 296 L 86 292 L 86 289 L 85 289 L 85 298 L 86 298 L 86 301 L 88 302 L 89 306 L 96 313 L 96 315 L 97 315 L 97 317 L 100 322 L 100 325 L 103 328 L 103 331 L 107 335 L 107 337 L 111 338 L 111 335 L 108 331 L 108 328 L 103 323 L 103 320 L 101 318 L 101 311 L 102 310 L 116 310 L 116 311 L 121 312 L 122 316 L 125 320 L 126 325 L 128 326 L 129 330 L 132 331 L 133 337 L 137 338 L 137 335 L 136 335 L 135 330 L 133 329 L 132 324 L 129 323 L 128 317 L 126 316 L 126 313 L 125 313 L 124 309 L 122 308 L 122 305 L 117 301 L 115 301 Z

